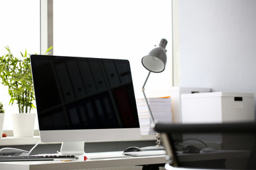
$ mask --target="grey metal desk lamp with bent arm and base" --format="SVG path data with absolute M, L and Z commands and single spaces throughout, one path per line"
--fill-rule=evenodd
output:
M 167 45 L 167 40 L 166 39 L 161 39 L 159 43 L 159 47 L 155 47 L 151 52 L 149 52 L 149 55 L 146 55 L 145 57 L 142 58 L 142 65 L 149 70 L 149 74 L 146 77 L 146 81 L 149 79 L 149 75 L 151 72 L 155 73 L 160 73 L 163 72 L 166 66 L 166 45 Z M 144 85 L 142 86 L 142 92 L 144 94 L 144 98 L 146 101 L 146 105 L 149 108 L 149 113 L 150 117 L 152 120 L 153 125 L 155 125 L 155 120 L 154 116 L 152 114 L 151 108 L 149 106 L 149 102 L 146 98 L 146 94 L 144 92 L 144 87 L 146 85 L 146 81 L 144 82 Z M 159 133 L 156 132 L 156 146 L 154 147 L 145 147 L 144 149 L 164 149 L 164 147 L 161 146 L 161 138 Z

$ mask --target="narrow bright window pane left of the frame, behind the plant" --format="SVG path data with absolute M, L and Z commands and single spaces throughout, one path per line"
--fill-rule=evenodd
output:
M 40 50 L 40 1 L 9 0 L 0 1 L 0 55 L 7 53 L 7 45 L 16 56 L 20 52 L 34 54 Z M 9 106 L 6 86 L 0 85 L 0 101 L 6 110 L 4 130 L 11 130 L 11 113 L 18 113 L 18 106 Z M 36 110 L 33 111 L 34 113 Z

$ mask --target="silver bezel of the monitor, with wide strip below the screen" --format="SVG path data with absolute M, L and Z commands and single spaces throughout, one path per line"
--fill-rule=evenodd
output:
M 46 55 L 31 55 L 33 57 L 46 57 Z M 70 57 L 47 55 L 47 57 Z M 95 59 L 91 57 L 73 57 Z M 99 58 L 96 58 L 99 59 Z M 103 60 L 106 60 L 105 58 Z M 110 59 L 116 60 L 116 59 Z M 33 74 L 33 72 L 32 72 Z M 36 96 L 36 93 L 35 93 Z M 39 122 L 39 121 L 38 121 Z M 107 142 L 139 140 L 141 138 L 140 128 L 112 128 L 112 129 L 75 129 L 75 130 L 40 130 L 41 142 Z

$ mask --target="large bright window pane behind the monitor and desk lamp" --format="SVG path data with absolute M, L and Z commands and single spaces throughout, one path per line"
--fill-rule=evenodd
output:
M 171 87 L 171 34 L 169 0 L 53 1 L 54 55 L 129 60 L 137 98 L 148 74 L 142 57 L 161 38 L 169 41 L 166 70 L 151 74 L 145 92 Z

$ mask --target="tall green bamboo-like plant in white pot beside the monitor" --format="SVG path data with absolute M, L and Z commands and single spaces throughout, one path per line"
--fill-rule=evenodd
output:
M 31 110 L 36 107 L 33 105 L 35 95 L 30 55 L 25 50 L 24 53 L 21 52 L 21 57 L 14 57 L 9 47 L 5 48 L 8 53 L 0 57 L 0 78 L 2 84 L 8 86 L 11 97 L 9 104 L 13 105 L 16 101 L 18 113 L 23 113 L 12 113 L 11 115 L 14 137 L 33 137 L 36 114 L 32 114 Z M 51 48 L 46 51 L 46 54 Z

